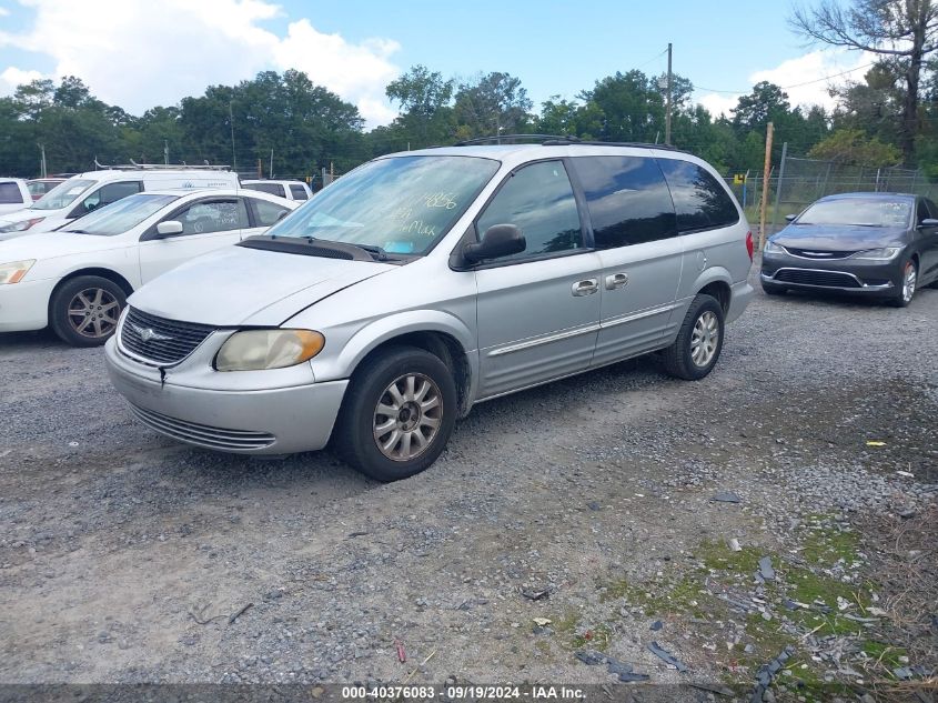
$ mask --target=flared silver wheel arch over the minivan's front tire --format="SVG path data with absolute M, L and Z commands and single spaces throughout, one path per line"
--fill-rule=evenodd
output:
M 313 359 L 313 373 L 317 381 L 350 378 L 362 360 L 372 351 L 405 334 L 437 332 L 455 340 L 466 352 L 470 383 L 478 378 L 478 353 L 475 335 L 458 318 L 440 310 L 409 310 L 380 318 L 355 332 L 343 345 L 337 356 Z M 326 344 L 329 340 L 326 339 Z

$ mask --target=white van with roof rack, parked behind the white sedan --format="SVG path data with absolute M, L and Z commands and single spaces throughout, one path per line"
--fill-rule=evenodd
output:
M 0 240 L 49 232 L 142 191 L 238 187 L 238 173 L 228 167 L 132 164 L 78 173 L 24 210 L 0 214 Z

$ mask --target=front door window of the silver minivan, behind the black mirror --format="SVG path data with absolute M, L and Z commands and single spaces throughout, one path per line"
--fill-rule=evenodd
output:
M 527 243 L 523 252 L 500 262 L 581 249 L 579 213 L 564 164 L 533 163 L 510 177 L 478 218 L 478 238 L 493 224 L 521 228 Z

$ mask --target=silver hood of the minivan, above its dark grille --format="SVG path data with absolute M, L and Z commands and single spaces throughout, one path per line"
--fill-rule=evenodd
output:
M 128 299 L 144 312 L 215 327 L 278 327 L 394 264 L 228 247 L 184 263 Z

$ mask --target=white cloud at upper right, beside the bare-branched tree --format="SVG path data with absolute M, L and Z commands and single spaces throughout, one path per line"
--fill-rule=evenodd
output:
M 843 86 L 847 81 L 861 81 L 864 68 L 875 60 L 876 57 L 869 53 L 820 49 L 783 61 L 773 69 L 750 73 L 749 89 L 745 92 L 705 92 L 696 101 L 715 117 L 730 117 L 729 111 L 736 107 L 740 96 L 748 94 L 756 83 L 768 81 L 783 88 L 793 107 L 808 108 L 817 104 L 830 110 L 837 102 L 830 97 L 830 88 Z

